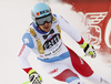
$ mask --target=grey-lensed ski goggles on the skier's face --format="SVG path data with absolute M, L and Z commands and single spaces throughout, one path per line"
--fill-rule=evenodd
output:
M 52 14 L 51 13 L 46 15 L 46 17 L 36 19 L 36 23 L 38 25 L 43 25 L 46 22 L 48 22 L 48 23 L 52 22 Z

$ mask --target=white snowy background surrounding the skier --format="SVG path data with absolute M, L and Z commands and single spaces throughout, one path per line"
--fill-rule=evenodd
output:
M 38 1 L 40 0 L 0 0 L 0 84 L 22 84 L 29 81 L 28 75 L 19 66 L 17 56 L 22 34 L 32 22 L 31 9 Z M 82 32 L 85 27 L 82 23 L 81 15 L 71 11 L 71 6 L 57 2 L 58 0 L 53 1 L 49 2 L 52 12 L 61 14 L 78 31 Z M 68 34 L 62 32 L 62 38 L 67 45 L 79 55 L 83 55 L 80 46 Z M 87 56 L 84 60 L 98 74 L 103 75 L 111 82 L 110 64 L 107 64 L 99 53 L 95 59 Z M 67 84 L 46 75 L 39 67 L 37 56 L 33 53 L 30 53 L 29 62 L 41 74 L 42 84 Z M 84 80 L 83 82 L 91 84 Z

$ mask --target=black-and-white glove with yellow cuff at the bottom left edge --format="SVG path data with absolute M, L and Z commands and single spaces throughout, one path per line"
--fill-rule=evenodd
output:
M 32 84 L 41 84 L 42 82 L 41 76 L 34 70 L 29 71 L 29 80 Z

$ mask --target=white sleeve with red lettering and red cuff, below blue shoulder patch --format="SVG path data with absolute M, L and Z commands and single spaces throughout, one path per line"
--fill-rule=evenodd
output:
M 28 55 L 30 54 L 31 50 L 32 49 L 30 49 L 22 42 L 18 54 L 19 64 L 27 73 L 29 73 L 30 70 L 32 70 L 28 62 Z

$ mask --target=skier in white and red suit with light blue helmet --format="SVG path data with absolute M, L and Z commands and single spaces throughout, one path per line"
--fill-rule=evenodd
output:
M 28 62 L 31 51 L 37 54 L 40 66 L 53 78 L 69 84 L 83 84 L 79 76 L 94 84 L 110 84 L 95 74 L 82 57 L 63 44 L 61 30 L 67 32 L 91 57 L 95 57 L 92 45 L 84 42 L 81 34 L 61 15 L 52 14 L 50 7 L 37 3 L 31 10 L 33 22 L 22 36 L 22 45 L 18 54 L 20 66 L 29 75 L 32 84 L 41 84 L 42 78 Z

